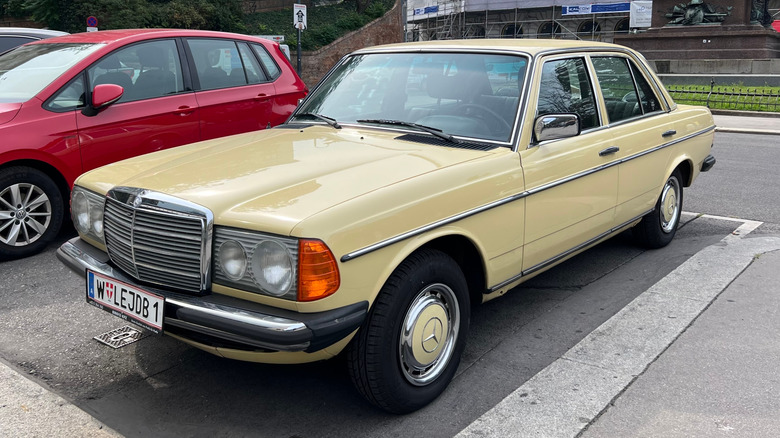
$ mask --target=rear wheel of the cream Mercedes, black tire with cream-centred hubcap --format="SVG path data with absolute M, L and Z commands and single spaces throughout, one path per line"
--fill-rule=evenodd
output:
M 666 180 L 655 209 L 642 218 L 633 230 L 637 242 L 651 249 L 663 248 L 677 233 L 682 214 L 682 175 L 675 170 Z

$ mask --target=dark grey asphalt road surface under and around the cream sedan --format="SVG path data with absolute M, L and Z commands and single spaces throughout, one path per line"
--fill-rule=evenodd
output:
M 718 164 L 685 210 L 780 232 L 776 137 L 717 134 Z M 429 407 L 399 417 L 366 404 L 345 364 L 273 366 L 218 358 L 167 337 L 112 350 L 92 340 L 122 321 L 84 302 L 56 245 L 0 265 L 0 357 L 114 430 L 134 436 L 453 436 L 640 293 L 734 229 L 696 218 L 662 250 L 624 233 L 477 307 L 458 375 Z M 68 233 L 60 241 L 68 238 Z

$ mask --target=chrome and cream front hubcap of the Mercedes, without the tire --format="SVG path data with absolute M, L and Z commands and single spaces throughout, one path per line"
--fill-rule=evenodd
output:
M 404 377 L 424 386 L 441 375 L 458 339 L 460 310 L 449 286 L 427 286 L 412 300 L 404 317 L 399 360 Z

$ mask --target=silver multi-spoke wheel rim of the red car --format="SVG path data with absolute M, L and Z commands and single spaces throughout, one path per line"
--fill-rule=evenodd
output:
M 0 191 L 0 242 L 29 245 L 43 236 L 51 222 L 51 202 L 40 187 L 13 184 Z

